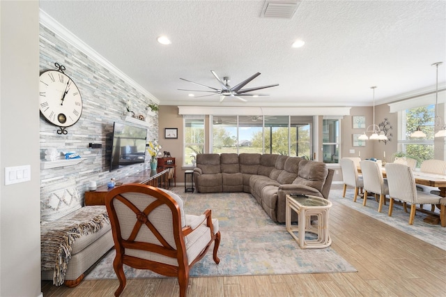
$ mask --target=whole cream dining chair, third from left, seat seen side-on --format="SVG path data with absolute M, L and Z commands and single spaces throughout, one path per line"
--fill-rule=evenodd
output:
M 413 224 L 417 204 L 440 204 L 440 196 L 417 191 L 413 171 L 407 165 L 387 163 L 385 173 L 389 185 L 389 216 L 392 216 L 394 199 L 410 204 L 409 224 Z

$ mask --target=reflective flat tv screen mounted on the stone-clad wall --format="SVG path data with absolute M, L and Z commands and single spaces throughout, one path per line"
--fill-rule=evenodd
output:
M 123 123 L 113 124 L 110 171 L 146 160 L 147 129 Z

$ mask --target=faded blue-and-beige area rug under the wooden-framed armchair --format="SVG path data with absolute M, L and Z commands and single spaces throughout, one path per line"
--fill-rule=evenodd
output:
M 190 276 L 274 275 L 289 273 L 340 273 L 356 269 L 332 248 L 301 250 L 285 224 L 272 222 L 252 195 L 247 193 L 185 193 L 185 211 L 199 215 L 206 208 L 218 218 L 222 239 L 215 264 L 212 250 L 190 271 Z M 113 279 L 114 250 L 109 252 L 86 279 Z M 159 277 L 156 273 L 124 266 L 128 278 Z

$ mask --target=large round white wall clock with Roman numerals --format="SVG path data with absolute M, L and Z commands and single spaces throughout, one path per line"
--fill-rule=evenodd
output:
M 40 112 L 45 119 L 67 134 L 66 127 L 74 125 L 82 114 L 82 97 L 75 82 L 63 73 L 65 66 L 54 64 L 58 70 L 47 70 L 40 75 Z

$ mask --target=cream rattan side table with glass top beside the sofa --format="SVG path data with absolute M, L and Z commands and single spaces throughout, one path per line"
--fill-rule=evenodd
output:
M 300 248 L 327 248 L 332 244 L 328 233 L 328 211 L 331 201 L 316 196 L 286 195 L 285 224 L 286 231 L 298 242 Z M 291 211 L 298 214 L 298 226 L 291 226 Z M 312 215 L 317 216 L 317 226 L 312 225 Z M 294 232 L 298 231 L 298 236 Z M 305 239 L 305 233 L 316 234 L 316 239 Z

